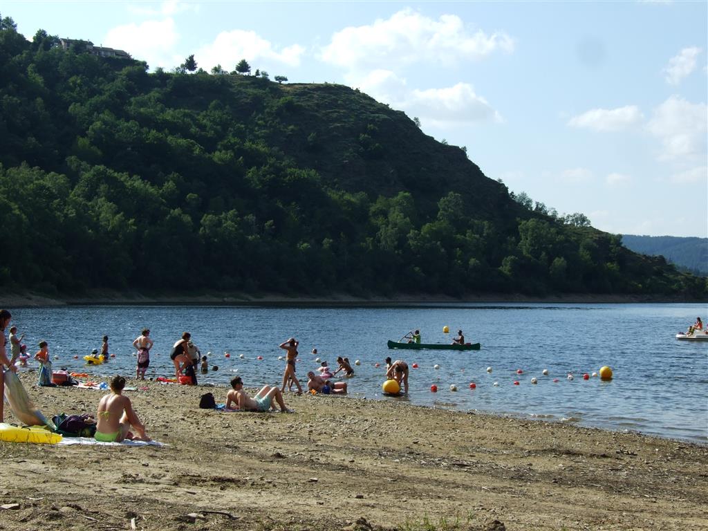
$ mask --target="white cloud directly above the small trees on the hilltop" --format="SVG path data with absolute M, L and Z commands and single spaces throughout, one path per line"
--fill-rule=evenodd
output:
M 260 37 L 256 32 L 232 30 L 219 33 L 214 42 L 197 50 L 194 58 L 200 67 L 207 71 L 217 64 L 221 64 L 224 70 L 232 70 L 241 59 L 246 59 L 253 69 L 262 69 L 266 66 L 258 62 L 297 67 L 304 51 L 304 47 L 297 44 L 277 50 L 270 41 Z

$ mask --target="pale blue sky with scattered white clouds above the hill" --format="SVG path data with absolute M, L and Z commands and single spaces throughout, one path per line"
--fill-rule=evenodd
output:
M 345 84 L 614 234 L 708 236 L 707 1 L 0 0 L 151 70 Z

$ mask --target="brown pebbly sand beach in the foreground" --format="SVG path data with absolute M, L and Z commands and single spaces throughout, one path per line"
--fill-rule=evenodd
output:
M 46 416 L 103 395 L 22 379 Z M 704 445 L 393 399 L 222 413 L 198 402 L 223 387 L 127 385 L 166 446 L 0 442 L 0 529 L 708 529 Z

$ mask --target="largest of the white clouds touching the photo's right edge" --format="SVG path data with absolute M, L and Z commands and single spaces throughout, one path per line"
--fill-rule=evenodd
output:
M 661 140 L 661 161 L 704 159 L 708 108 L 705 103 L 690 103 L 670 96 L 654 109 L 647 130 Z

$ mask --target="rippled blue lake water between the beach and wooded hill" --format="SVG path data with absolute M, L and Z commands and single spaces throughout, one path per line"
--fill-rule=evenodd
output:
M 333 367 L 338 355 L 352 364 L 360 360 L 348 384 L 350 394 L 367 399 L 708 440 L 708 345 L 674 337 L 696 316 L 708 321 L 706 304 L 91 306 L 11 312 L 12 324 L 27 334 L 28 353 L 33 355 L 45 339 L 52 358 L 59 356 L 53 360 L 55 370 L 91 372 L 96 379 L 116 373 L 135 376 L 132 341 L 147 326 L 155 341 L 148 377 L 173 375 L 169 351 L 183 331 L 190 331 L 202 354 L 211 353 L 210 366 L 219 366 L 217 372 L 198 375 L 200 384 L 225 386 L 235 374 L 244 378 L 246 387 L 280 384 L 285 362 L 278 357 L 285 351 L 278 345 L 295 336 L 300 341 L 297 375 L 303 384 L 307 371 L 319 366 L 310 354 L 317 348 L 319 358 Z M 421 330 L 423 343 L 450 343 L 454 334 L 442 333 L 443 326 L 451 332 L 462 329 L 467 341 L 481 343 L 481 350 L 406 351 L 386 346 L 387 339 L 397 341 L 411 329 Z M 101 348 L 104 334 L 110 337 L 115 358 L 105 365 L 85 365 L 83 356 Z M 418 364 L 411 368 L 409 396 L 382 396 L 387 356 Z M 583 380 L 583 373 L 598 372 L 603 365 L 612 367 L 612 381 Z M 523 374 L 517 374 L 519 369 Z M 548 376 L 542 375 L 544 369 Z M 569 373 L 575 377 L 572 381 Z M 531 384 L 532 377 L 537 384 Z M 513 384 L 515 380 L 520 384 Z M 469 389 L 470 382 L 476 389 Z M 437 393 L 430 392 L 433 384 Z M 457 392 L 450 391 L 452 384 Z M 222 394 L 215 393 L 217 401 L 223 400 Z

